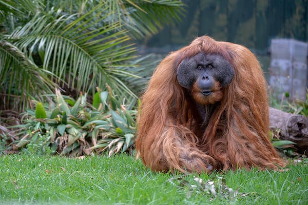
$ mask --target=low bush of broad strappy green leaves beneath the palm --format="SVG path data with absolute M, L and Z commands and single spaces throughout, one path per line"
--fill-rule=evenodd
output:
M 95 93 L 92 105 L 86 94 L 74 100 L 59 90 L 49 104 L 36 102 L 35 110 L 23 114 L 23 125 L 15 126 L 21 132 L 12 148 L 68 156 L 132 152 L 137 111 L 126 109 L 125 100 L 120 103 L 108 89 Z

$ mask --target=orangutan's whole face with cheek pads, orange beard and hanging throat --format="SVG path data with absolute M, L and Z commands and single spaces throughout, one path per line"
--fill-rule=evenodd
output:
M 233 66 L 218 54 L 203 52 L 182 60 L 177 70 L 179 84 L 191 91 L 197 110 L 203 119 L 204 131 L 222 96 L 221 88 L 228 86 L 234 78 Z M 196 93 L 197 92 L 197 93 Z

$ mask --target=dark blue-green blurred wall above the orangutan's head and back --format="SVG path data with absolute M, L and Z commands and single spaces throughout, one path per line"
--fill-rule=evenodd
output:
M 187 12 L 182 22 L 165 27 L 141 44 L 176 47 L 189 44 L 196 36 L 209 35 L 266 53 L 269 40 L 274 37 L 308 40 L 307 0 L 183 2 Z

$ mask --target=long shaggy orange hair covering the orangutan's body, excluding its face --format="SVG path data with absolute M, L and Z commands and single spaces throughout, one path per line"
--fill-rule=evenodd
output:
M 219 54 L 235 69 L 215 104 L 205 131 L 196 103 L 177 80 L 184 58 L 200 52 Z M 269 137 L 266 81 L 247 48 L 208 36 L 170 53 L 157 67 L 141 98 L 137 151 L 156 171 L 211 171 L 284 166 Z

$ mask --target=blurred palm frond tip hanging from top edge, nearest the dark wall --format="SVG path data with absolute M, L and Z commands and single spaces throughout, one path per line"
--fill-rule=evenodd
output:
M 106 0 L 115 19 L 132 32 L 133 37 L 141 38 L 156 34 L 163 25 L 180 20 L 184 13 L 182 1 L 166 0 Z

